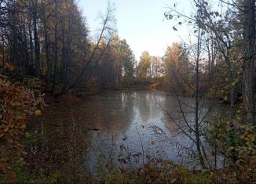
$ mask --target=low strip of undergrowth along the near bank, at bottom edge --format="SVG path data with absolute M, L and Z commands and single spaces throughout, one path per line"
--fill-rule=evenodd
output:
M 74 183 L 253 183 L 248 179 L 241 182 L 235 168 L 221 170 L 188 171 L 181 164 L 171 161 L 151 160 L 138 169 L 113 168 L 105 175 L 84 174 L 77 177 Z M 71 183 L 60 171 L 53 171 L 46 177 L 39 172 L 20 171 L 16 183 Z

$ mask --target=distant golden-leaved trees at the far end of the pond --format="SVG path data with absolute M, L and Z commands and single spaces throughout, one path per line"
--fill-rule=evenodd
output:
M 195 68 L 188 49 L 174 42 L 167 46 L 163 56 L 151 56 L 148 51 L 141 54 L 134 67 L 134 84 L 150 85 L 152 88 L 174 88 L 180 94 L 192 93 L 187 84 L 195 85 Z

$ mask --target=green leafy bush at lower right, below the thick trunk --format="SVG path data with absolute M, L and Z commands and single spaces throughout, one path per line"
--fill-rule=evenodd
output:
M 256 165 L 255 128 L 256 126 L 241 124 L 230 117 L 226 121 L 218 118 L 211 123 L 208 141 L 219 153 L 225 154 L 230 162 L 236 164 L 237 168 L 251 175 L 251 168 Z M 244 164 L 247 168 L 243 168 Z

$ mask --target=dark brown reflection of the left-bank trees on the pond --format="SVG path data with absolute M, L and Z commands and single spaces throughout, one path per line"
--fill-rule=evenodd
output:
M 42 146 L 31 145 L 31 150 L 38 150 L 38 153 L 42 153 L 42 149 L 51 150 L 51 153 L 45 154 L 46 159 L 58 150 L 62 155 L 57 156 L 66 158 L 63 161 L 74 161 L 73 155 L 79 155 L 75 161 L 82 164 L 90 140 L 95 142 L 100 138 L 108 144 L 112 134 L 126 132 L 134 119 L 133 103 L 133 93 L 126 92 L 92 96 L 75 106 L 50 106 L 42 117 L 34 120 L 35 127 L 31 126 L 31 130 L 43 133 Z M 91 131 L 95 128 L 100 131 Z M 39 160 L 44 160 L 42 156 L 37 156 Z

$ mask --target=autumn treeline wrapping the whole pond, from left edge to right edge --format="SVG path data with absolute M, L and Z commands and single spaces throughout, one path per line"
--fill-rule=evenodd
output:
M 122 84 L 157 82 L 181 88 L 183 93 L 195 92 L 198 70 L 199 94 L 216 93 L 235 106 L 243 93 L 245 112 L 252 119 L 255 31 L 251 28 L 254 5 L 250 3 L 211 7 L 209 2 L 199 1 L 194 16 L 183 15 L 177 5 L 170 7 L 166 19 L 176 17 L 177 26 L 191 26 L 199 44 L 171 45 L 162 57 L 145 51 L 137 62 L 126 40 L 115 33 L 112 5 L 100 17 L 101 31 L 93 40 L 74 0 L 2 0 L 0 66 L 13 70 L 11 74 L 22 80 L 42 79 L 44 91 L 54 95 L 71 89 L 98 92 Z

